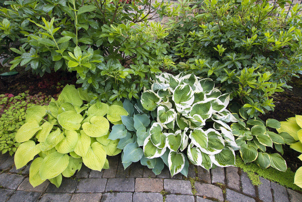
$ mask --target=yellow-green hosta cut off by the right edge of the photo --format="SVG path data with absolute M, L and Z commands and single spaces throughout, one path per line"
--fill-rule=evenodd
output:
M 288 118 L 286 121 L 281 121 L 281 127 L 277 129 L 280 133 L 289 133 L 294 140 L 291 142 L 291 148 L 302 153 L 302 116 Z M 302 154 L 298 156 L 302 161 Z M 295 174 L 294 184 L 302 188 L 302 167 Z

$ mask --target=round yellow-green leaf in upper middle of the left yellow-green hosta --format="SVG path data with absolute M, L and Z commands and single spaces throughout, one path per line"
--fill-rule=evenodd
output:
M 81 127 L 83 117 L 76 111 L 65 111 L 58 115 L 59 124 L 66 130 L 77 131 Z

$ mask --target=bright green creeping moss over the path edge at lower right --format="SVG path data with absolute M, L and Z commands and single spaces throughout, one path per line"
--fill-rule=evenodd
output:
M 291 171 L 290 168 L 288 168 L 285 172 L 278 171 L 272 167 L 262 169 L 254 162 L 245 164 L 239 155 L 236 155 L 235 165 L 246 172 L 253 185 L 262 184 L 259 177 L 263 177 L 284 187 L 302 191 L 300 187 L 294 184 L 295 173 Z

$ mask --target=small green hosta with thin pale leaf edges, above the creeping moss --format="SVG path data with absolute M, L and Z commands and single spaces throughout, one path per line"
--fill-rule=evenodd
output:
M 294 138 L 287 132 L 276 134 L 268 130 L 268 127 L 281 127 L 279 121 L 275 119 L 268 119 L 264 123 L 259 120 L 248 120 L 246 123 L 239 120 L 237 123 L 231 125 L 233 135 L 237 136 L 235 142 L 240 147 L 240 155 L 244 163 L 257 161 L 257 164 L 265 169 L 269 166 L 279 170 L 286 171 L 287 165 L 280 154 L 268 154 L 266 147 L 273 148 L 283 154 L 282 144 L 293 144 Z

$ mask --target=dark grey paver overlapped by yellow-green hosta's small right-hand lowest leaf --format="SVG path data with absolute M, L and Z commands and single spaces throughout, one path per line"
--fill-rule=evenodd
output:
M 60 185 L 59 188 L 56 187 L 54 184 L 50 184 L 46 192 L 50 193 L 74 193 L 76 190 L 76 186 L 78 185 L 77 180 L 72 180 L 72 179 L 63 179 L 62 184 Z

